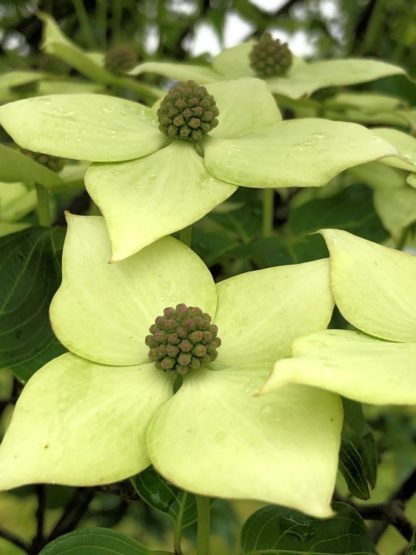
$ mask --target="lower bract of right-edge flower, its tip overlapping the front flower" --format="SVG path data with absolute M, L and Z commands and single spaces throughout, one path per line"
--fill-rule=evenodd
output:
M 328 330 L 297 339 L 292 356 L 275 364 L 262 393 L 296 383 L 362 403 L 416 403 L 416 341 L 389 343 L 352 331 Z

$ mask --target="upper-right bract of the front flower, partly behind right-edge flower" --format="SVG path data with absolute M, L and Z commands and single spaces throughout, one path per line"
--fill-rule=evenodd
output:
M 247 272 L 221 281 L 217 291 L 222 344 L 215 368 L 271 369 L 294 339 L 325 329 L 334 306 L 328 259 Z

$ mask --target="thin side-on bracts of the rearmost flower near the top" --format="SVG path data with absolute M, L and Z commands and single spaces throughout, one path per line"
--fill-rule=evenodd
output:
M 249 64 L 249 54 L 254 41 L 227 48 L 212 60 L 210 67 L 177 62 L 145 62 L 129 73 L 157 73 L 173 79 L 193 79 L 199 83 L 209 83 L 241 77 L 255 77 Z M 313 92 L 345 85 L 357 85 L 388 77 L 405 75 L 405 71 L 395 65 L 366 58 L 346 58 L 304 62 L 295 58 L 287 75 L 265 79 L 269 90 L 289 98 L 309 96 Z

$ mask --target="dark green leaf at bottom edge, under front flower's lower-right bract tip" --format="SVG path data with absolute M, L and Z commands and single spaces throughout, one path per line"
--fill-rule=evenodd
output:
M 376 550 L 361 516 L 344 503 L 335 503 L 334 509 L 334 518 L 318 520 L 284 507 L 263 507 L 244 524 L 242 553 L 374 555 Z

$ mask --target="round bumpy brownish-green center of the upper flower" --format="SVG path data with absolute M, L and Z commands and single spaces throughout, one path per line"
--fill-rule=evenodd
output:
M 194 81 L 179 83 L 162 100 L 159 129 L 172 139 L 197 142 L 218 125 L 214 97 Z

